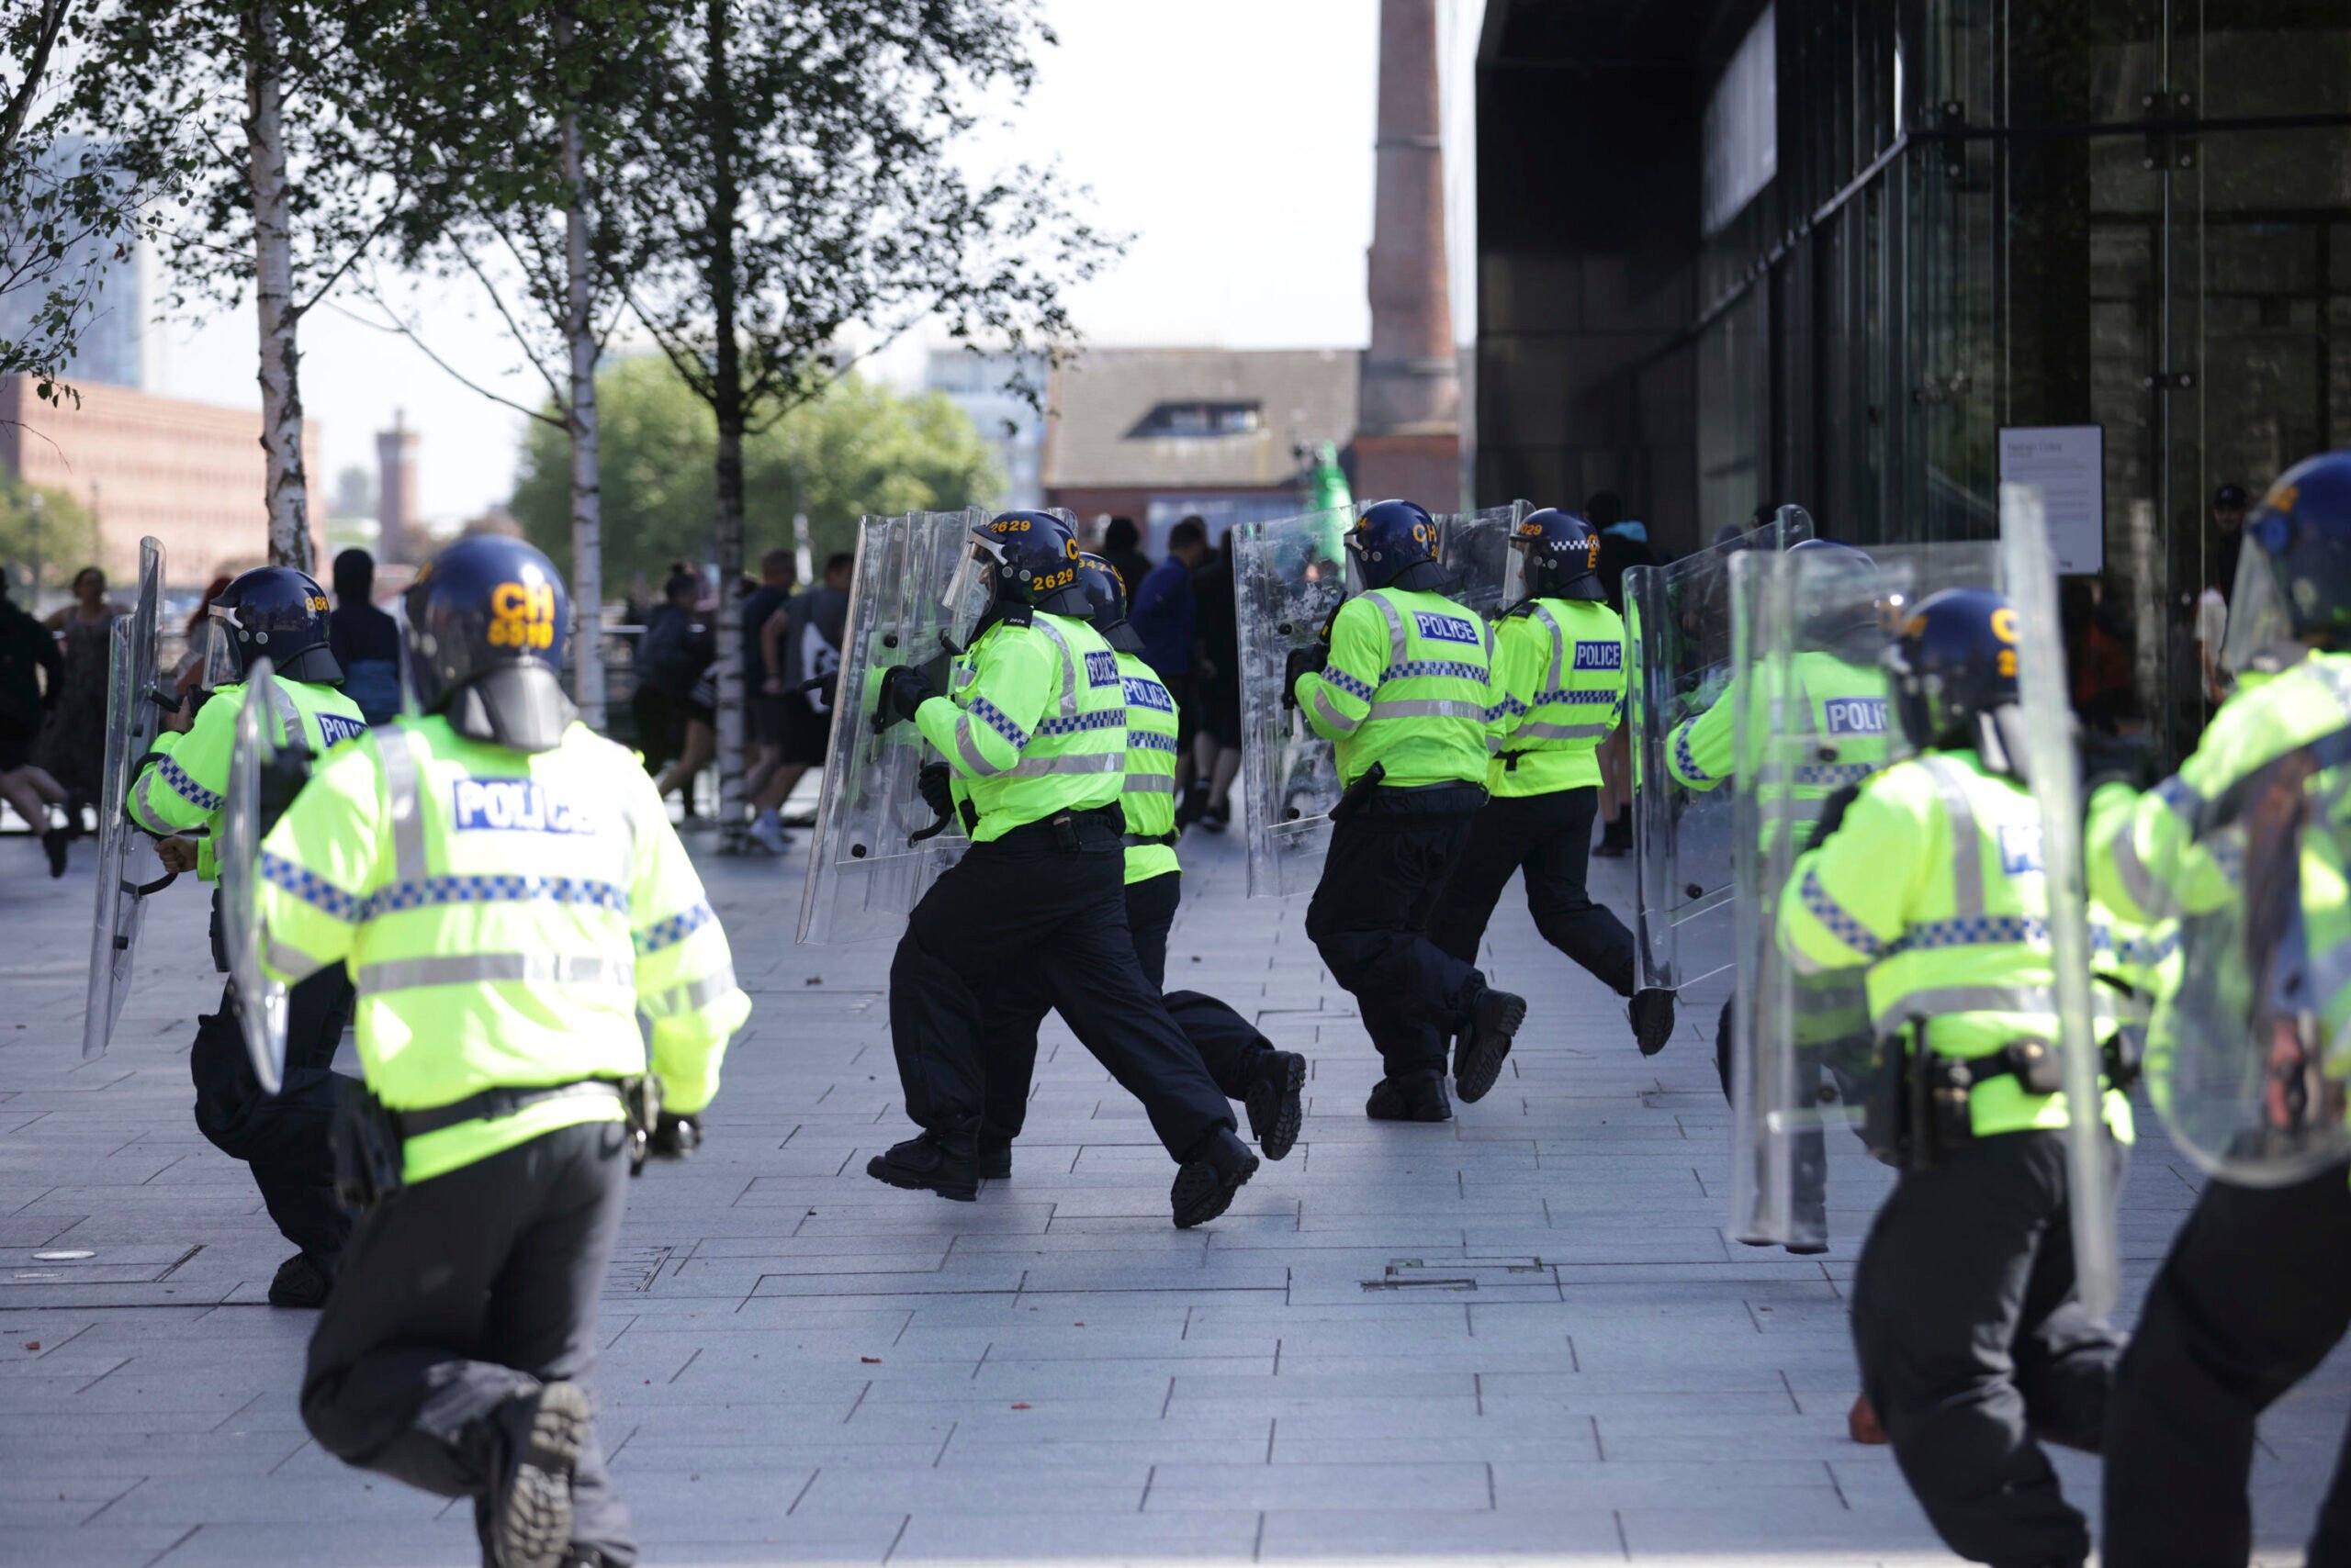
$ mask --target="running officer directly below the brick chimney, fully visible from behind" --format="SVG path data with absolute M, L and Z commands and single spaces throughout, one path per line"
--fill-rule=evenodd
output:
M 1364 1114 L 1446 1121 L 1453 1081 L 1479 1100 L 1502 1074 L 1526 999 L 1429 940 L 1429 910 L 1486 804 L 1486 623 L 1439 588 L 1436 522 L 1380 501 L 1347 531 L 1347 599 L 1324 642 L 1291 654 L 1284 701 L 1338 748 L 1347 792 L 1307 905 L 1307 938 L 1354 994 L 1387 1077 Z

